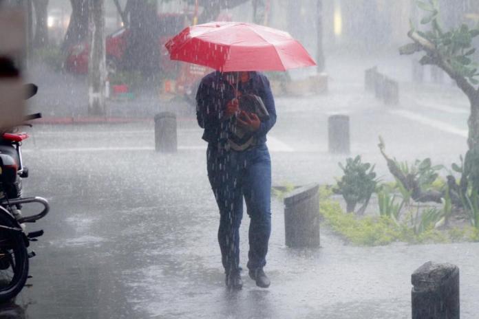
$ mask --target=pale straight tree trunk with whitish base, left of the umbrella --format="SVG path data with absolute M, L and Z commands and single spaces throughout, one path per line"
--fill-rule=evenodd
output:
M 105 3 L 89 0 L 88 114 L 105 115 Z

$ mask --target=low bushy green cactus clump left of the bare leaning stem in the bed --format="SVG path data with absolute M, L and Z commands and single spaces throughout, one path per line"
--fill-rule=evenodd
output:
M 343 177 L 337 181 L 337 186 L 333 191 L 343 195 L 348 212 L 353 212 L 357 203 L 368 204 L 368 201 L 376 189 L 376 173 L 374 173 L 374 165 L 370 163 L 362 163 L 361 156 L 354 159 L 346 159 L 346 165 L 339 163 L 339 167 L 343 170 Z M 363 209 L 365 206 L 363 206 Z

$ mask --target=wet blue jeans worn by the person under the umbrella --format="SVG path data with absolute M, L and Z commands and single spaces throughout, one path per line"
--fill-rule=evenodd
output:
M 266 144 L 246 151 L 218 150 L 209 144 L 208 177 L 220 209 L 218 242 L 227 274 L 240 268 L 243 197 L 251 219 L 248 269 L 266 265 L 271 232 L 271 160 Z

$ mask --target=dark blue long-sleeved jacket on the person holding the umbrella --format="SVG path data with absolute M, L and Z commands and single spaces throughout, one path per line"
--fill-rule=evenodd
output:
M 257 144 L 264 144 L 266 133 L 276 122 L 275 100 L 268 78 L 259 72 L 250 72 L 250 79 L 246 83 L 240 83 L 238 91 L 259 96 L 268 110 L 269 120 L 262 122 L 255 132 Z M 216 144 L 228 138 L 227 132 L 232 119 L 220 119 L 223 118 L 226 104 L 233 98 L 235 98 L 235 87 L 228 83 L 221 72 L 216 71 L 202 78 L 196 94 L 196 118 L 198 124 L 204 129 L 202 138 L 206 142 Z

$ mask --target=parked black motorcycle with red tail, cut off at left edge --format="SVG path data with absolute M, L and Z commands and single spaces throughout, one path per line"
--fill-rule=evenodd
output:
M 30 86 L 33 96 L 36 86 Z M 28 115 L 25 122 L 34 118 L 41 118 L 41 114 Z M 34 223 L 50 210 L 48 201 L 42 197 L 22 197 L 21 181 L 28 177 L 28 168 L 23 166 L 21 145 L 28 137 L 28 133 L 17 129 L 0 132 L 0 303 L 21 292 L 29 277 L 28 259 L 35 256 L 35 252 L 27 249 L 31 241 L 43 235 L 43 230 L 25 232 L 25 223 Z M 40 203 L 43 209 L 38 214 L 23 216 L 22 206 L 30 203 Z

